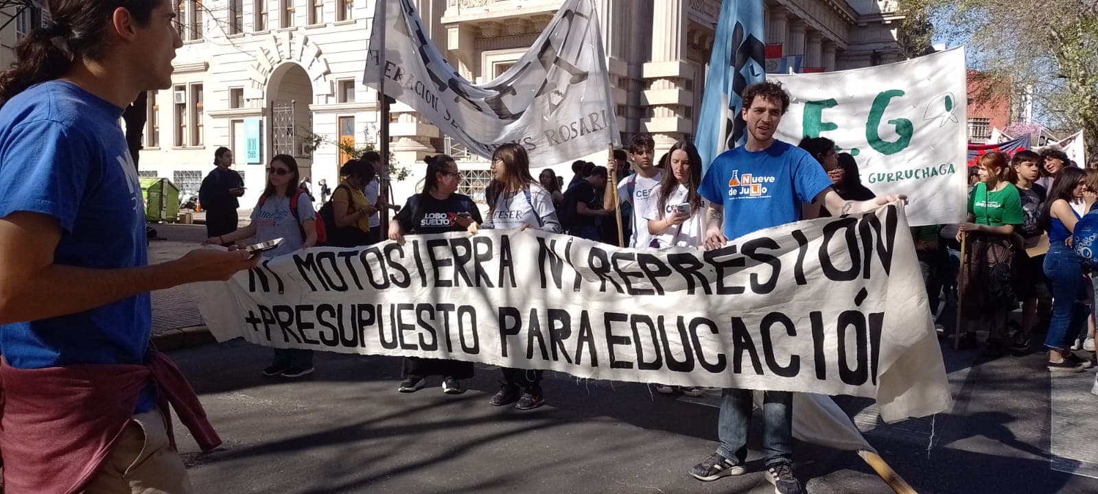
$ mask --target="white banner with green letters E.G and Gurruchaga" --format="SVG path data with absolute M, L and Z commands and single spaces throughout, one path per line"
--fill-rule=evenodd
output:
M 912 226 L 964 221 L 967 92 L 964 48 L 897 64 L 766 78 L 785 85 L 780 139 L 827 137 L 878 195 L 907 194 Z

